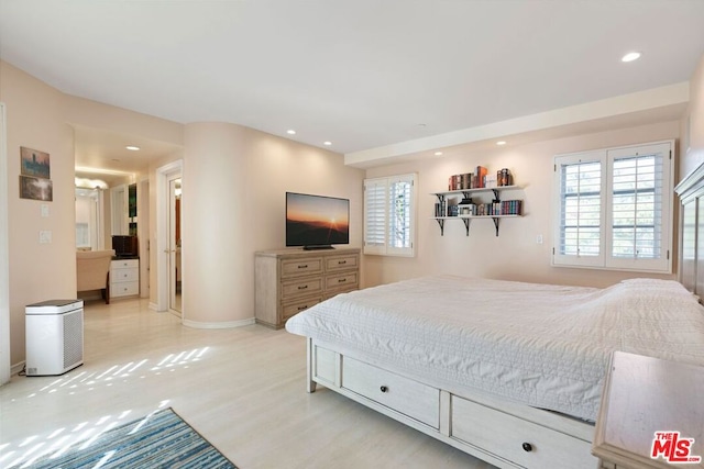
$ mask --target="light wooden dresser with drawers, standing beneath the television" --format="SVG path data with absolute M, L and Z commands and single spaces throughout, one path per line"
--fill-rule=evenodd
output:
M 255 253 L 255 319 L 282 328 L 290 316 L 360 287 L 360 249 Z

